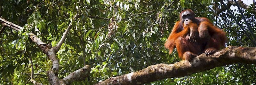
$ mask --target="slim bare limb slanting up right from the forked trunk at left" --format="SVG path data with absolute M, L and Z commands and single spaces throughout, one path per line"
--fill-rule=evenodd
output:
M 78 18 L 78 13 L 75 15 L 75 17 L 74 17 L 73 19 L 76 20 L 77 18 Z M 64 34 L 62 35 L 62 37 L 61 37 L 59 43 L 56 45 L 57 51 L 60 50 L 60 47 L 61 47 L 62 43 L 64 43 L 64 41 L 65 41 L 65 39 L 66 39 L 66 37 L 67 37 L 68 32 L 69 32 L 69 30 L 71 29 L 73 19 L 70 20 L 70 23 L 69 23 L 69 25 L 68 25 L 68 28 L 65 30 L 65 32 L 64 32 Z

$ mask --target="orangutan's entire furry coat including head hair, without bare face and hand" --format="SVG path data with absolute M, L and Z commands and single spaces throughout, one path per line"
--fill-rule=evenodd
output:
M 186 12 L 185 14 L 190 13 L 191 15 L 189 17 L 186 16 L 187 19 L 192 20 L 192 22 L 190 22 L 186 27 L 184 27 L 183 24 L 185 23 L 184 19 L 181 18 L 181 14 L 183 12 Z M 204 17 L 195 17 L 194 15 L 195 13 L 192 10 L 182 11 L 180 13 L 180 21 L 175 23 L 171 34 L 164 44 L 165 48 L 169 49 L 169 54 L 171 54 L 173 49 L 176 47 L 179 57 L 182 60 L 190 60 L 192 57 L 203 52 L 207 55 L 214 53 L 221 47 L 225 47 L 227 40 L 225 32 L 218 27 L 213 26 L 209 19 Z M 189 36 L 188 32 L 190 31 L 192 31 L 192 33 L 199 33 L 199 38 L 196 39 L 196 43 L 192 43 L 187 39 Z

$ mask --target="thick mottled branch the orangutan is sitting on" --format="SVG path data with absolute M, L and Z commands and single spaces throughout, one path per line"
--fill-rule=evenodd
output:
M 256 48 L 228 46 L 210 56 L 201 54 L 190 61 L 182 60 L 170 65 L 157 64 L 148 66 L 137 72 L 110 77 L 96 85 L 145 84 L 165 78 L 183 77 L 233 63 L 256 64 Z

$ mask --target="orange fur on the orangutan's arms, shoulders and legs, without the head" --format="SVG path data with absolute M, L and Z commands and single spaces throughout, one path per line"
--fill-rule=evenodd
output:
M 189 53 L 193 53 L 194 55 L 198 55 L 201 54 L 203 51 L 205 51 L 206 49 L 220 49 L 220 47 L 224 47 L 225 46 L 225 42 L 226 42 L 226 36 L 225 36 L 225 32 L 223 32 L 222 30 L 220 30 L 219 28 L 213 26 L 211 23 L 207 22 L 207 21 L 203 21 L 200 23 L 200 26 L 205 27 L 204 29 L 207 29 L 207 31 L 209 31 L 209 35 L 211 37 L 207 37 L 210 38 L 209 40 L 203 40 L 201 39 L 201 41 L 197 42 L 197 43 L 191 43 L 188 40 L 185 39 L 186 35 L 188 34 L 188 32 L 190 31 L 190 29 L 197 29 L 197 30 L 201 30 L 196 23 L 189 23 L 187 27 L 184 27 L 184 29 L 180 32 L 175 32 L 174 30 L 177 31 L 177 27 L 179 27 L 178 23 L 180 23 L 180 21 L 176 22 L 171 34 L 169 35 L 168 39 L 166 40 L 166 43 L 164 44 L 165 48 L 169 49 L 169 54 L 172 53 L 172 50 L 176 47 L 178 54 L 179 54 L 179 58 L 181 58 L 182 60 L 184 59 L 191 59 L 192 56 L 190 56 L 189 54 L 184 54 L 185 52 L 189 52 Z M 184 26 L 184 25 L 183 25 Z M 207 42 L 206 46 L 203 45 L 202 42 Z

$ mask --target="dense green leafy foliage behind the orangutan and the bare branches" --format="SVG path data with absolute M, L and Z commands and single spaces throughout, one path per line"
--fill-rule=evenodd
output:
M 253 47 L 227 11 L 217 14 L 216 1 L 212 0 L 1 0 L 0 16 L 19 26 L 20 31 L 9 27 L 0 35 L 0 83 L 25 84 L 29 80 L 31 65 L 36 78 L 49 84 L 45 71 L 52 63 L 32 42 L 28 33 L 33 32 L 43 42 L 56 45 L 68 27 L 69 20 L 79 13 L 67 39 L 57 53 L 60 59 L 59 77 L 90 65 L 90 81 L 76 84 L 95 84 L 111 76 L 138 71 L 159 63 L 177 61 L 164 42 L 184 9 L 191 9 L 196 17 L 206 17 L 227 33 L 227 45 Z M 225 2 L 227 3 L 227 2 Z M 218 7 L 220 4 L 217 3 Z M 256 33 L 255 4 L 243 9 L 248 23 Z M 245 25 L 237 9 L 231 11 Z M 3 25 L 0 25 L 2 28 Z M 248 30 L 246 30 L 248 31 Z M 251 36 L 251 35 L 250 35 Z M 84 55 L 83 55 L 84 54 Z M 83 61 L 85 60 L 85 62 Z M 154 84 L 255 84 L 255 65 L 234 64 L 217 67 L 206 72 L 182 78 L 151 82 Z M 32 84 L 31 82 L 27 82 Z M 151 84 L 148 83 L 148 84 Z

